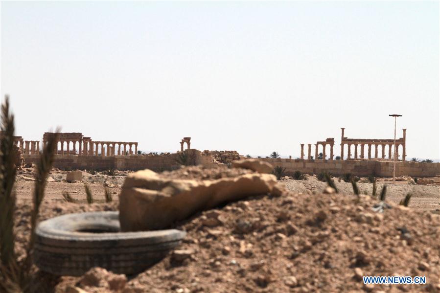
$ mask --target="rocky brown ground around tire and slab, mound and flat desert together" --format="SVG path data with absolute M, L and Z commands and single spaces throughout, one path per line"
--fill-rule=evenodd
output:
M 32 177 L 32 170 L 22 172 L 19 176 Z M 202 180 L 249 172 L 187 167 L 162 176 Z M 68 183 L 65 172 L 53 170 L 40 220 L 117 210 L 116 195 L 127 174 L 120 173 L 84 174 L 97 202 L 87 204 L 84 183 Z M 336 180 L 341 193 L 324 194 L 326 184 L 312 176 L 280 182 L 287 189 L 280 196 L 249 197 L 177 223 L 187 231 L 184 243 L 139 275 L 92 269 L 82 277 L 55 278 L 35 269 L 36 282 L 43 284 L 38 292 L 440 292 L 438 186 L 396 184 L 387 193 L 392 208 L 376 213 L 372 206 L 378 200 L 353 195 L 349 183 Z M 104 185 L 115 195 L 112 203 L 104 202 Z M 371 186 L 359 183 L 361 193 L 371 194 Z M 16 190 L 20 253 L 29 234 L 32 180 L 18 179 Z M 64 202 L 63 191 L 77 203 Z M 395 204 L 407 192 L 414 194 L 410 207 Z M 362 275 L 421 275 L 427 283 L 372 286 L 363 284 Z

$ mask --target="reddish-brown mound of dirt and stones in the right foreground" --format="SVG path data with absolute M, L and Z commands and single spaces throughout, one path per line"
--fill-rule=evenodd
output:
M 287 193 L 201 213 L 177 226 L 188 233 L 179 251 L 123 292 L 440 292 L 439 216 L 397 205 L 378 214 L 374 203 Z M 427 284 L 365 286 L 362 275 L 420 275 Z

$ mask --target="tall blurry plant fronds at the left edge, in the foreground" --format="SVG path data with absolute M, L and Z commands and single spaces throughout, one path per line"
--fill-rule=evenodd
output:
M 14 115 L 9 113 L 9 97 L 5 96 L 4 104 L 1 106 L 2 135 L 0 137 L 0 292 L 29 292 L 35 289 L 31 285 L 35 228 L 44 198 L 46 179 L 52 168 L 58 135 L 54 135 L 47 141 L 37 162 L 33 206 L 30 213 L 30 236 L 24 253 L 18 256 L 14 252 L 13 215 L 16 209 L 16 196 L 13 189 L 16 175 L 14 129 Z

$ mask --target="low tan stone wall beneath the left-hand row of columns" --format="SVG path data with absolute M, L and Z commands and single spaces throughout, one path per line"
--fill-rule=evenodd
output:
M 195 149 L 186 150 L 189 154 L 188 163 L 209 165 L 213 158 L 203 156 L 200 151 Z M 26 163 L 37 163 L 39 155 L 24 156 Z M 179 168 L 177 162 L 178 155 L 168 156 L 75 156 L 75 155 L 56 155 L 53 166 L 61 170 L 142 170 L 151 169 L 153 171 L 173 170 Z

